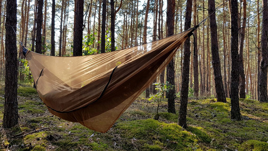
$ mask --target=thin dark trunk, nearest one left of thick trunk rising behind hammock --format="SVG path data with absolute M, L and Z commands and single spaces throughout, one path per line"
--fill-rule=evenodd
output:
M 51 19 L 51 56 L 55 56 L 55 0 L 52 0 L 52 19 Z

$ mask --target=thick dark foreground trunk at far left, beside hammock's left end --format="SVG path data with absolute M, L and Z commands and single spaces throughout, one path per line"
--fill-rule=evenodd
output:
M 18 123 L 17 102 L 17 1 L 9 0 L 6 6 L 6 82 L 3 127 Z

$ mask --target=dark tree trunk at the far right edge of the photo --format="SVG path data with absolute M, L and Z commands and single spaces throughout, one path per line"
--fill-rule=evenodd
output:
M 260 62 L 260 102 L 268 102 L 267 67 L 268 67 L 268 1 L 262 0 L 261 62 Z

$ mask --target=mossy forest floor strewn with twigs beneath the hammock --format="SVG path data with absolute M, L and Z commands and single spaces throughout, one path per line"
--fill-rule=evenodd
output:
M 106 133 L 89 130 L 50 114 L 35 89 L 18 88 L 19 124 L 2 128 L 4 85 L 0 85 L 0 150 L 268 150 L 268 103 L 240 99 L 242 121 L 230 118 L 227 103 L 215 98 L 190 99 L 188 128 L 177 124 L 178 114 L 138 98 Z M 179 110 L 179 99 L 176 110 Z

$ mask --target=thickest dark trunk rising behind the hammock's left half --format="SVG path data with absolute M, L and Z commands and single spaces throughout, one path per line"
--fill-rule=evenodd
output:
M 84 0 L 76 0 L 74 23 L 74 56 L 82 56 Z

